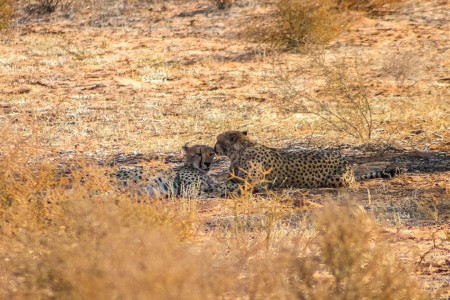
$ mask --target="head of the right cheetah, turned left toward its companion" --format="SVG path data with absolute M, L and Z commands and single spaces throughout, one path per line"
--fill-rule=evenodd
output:
M 247 131 L 226 131 L 217 136 L 217 142 L 214 151 L 218 155 L 230 157 L 236 152 L 240 152 L 250 143 Z

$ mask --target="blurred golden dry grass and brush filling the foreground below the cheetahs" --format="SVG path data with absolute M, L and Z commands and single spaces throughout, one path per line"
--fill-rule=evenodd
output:
M 195 199 L 136 201 L 95 165 L 68 181 L 2 155 L 2 298 L 428 297 L 355 204 L 311 214 L 244 190 L 205 218 Z

